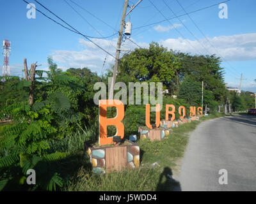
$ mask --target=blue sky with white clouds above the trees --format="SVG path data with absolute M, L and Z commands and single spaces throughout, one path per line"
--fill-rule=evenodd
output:
M 108 27 L 77 7 L 70 0 L 67 0 L 97 29 L 95 31 L 64 0 L 38 1 L 81 33 L 96 37 L 100 37 L 99 33 L 102 36 L 110 36 L 116 33 L 111 27 L 116 30 L 119 29 L 124 4 L 124 0 L 72 0 L 111 25 L 111 27 Z M 129 1 L 129 4 L 135 4 L 137 1 Z M 164 17 L 174 17 L 163 0 L 151 1 L 163 13 Z M 176 15 L 185 13 L 177 0 L 164 1 Z M 179 0 L 179 3 L 189 13 L 212 4 L 218 4 L 221 1 L 223 0 Z M 37 9 L 58 20 L 35 1 L 28 0 L 28 2 L 34 3 Z M 221 9 L 218 8 L 218 5 L 190 14 L 204 36 L 198 31 L 188 15 L 180 17 L 180 20 L 174 18 L 170 22 L 165 21 L 138 29 L 141 25 L 164 20 L 163 15 L 148 0 L 143 0 L 126 20 L 131 18 L 133 28 L 131 38 L 141 47 L 148 47 L 150 42 L 156 41 L 164 47 L 190 52 L 191 54 L 215 53 L 221 55 L 225 59 L 221 63 L 221 66 L 225 68 L 225 82 L 229 86 L 238 87 L 239 80 L 236 78 L 239 78 L 243 73 L 243 78 L 247 78 L 247 80 L 243 80 L 242 90 L 256 92 L 256 83 L 253 81 L 256 78 L 256 1 L 230 0 L 226 4 L 228 6 L 227 19 L 219 18 Z M 22 0 L 2 0 L 1 8 L 0 40 L 12 41 L 12 54 L 10 55 L 12 75 L 22 76 L 22 63 L 25 57 L 28 59 L 28 64 L 36 61 L 38 61 L 38 64 L 42 64 L 40 69 L 47 69 L 47 57 L 52 56 L 63 70 L 70 67 L 83 68 L 86 66 L 99 74 L 110 68 L 114 62 L 113 57 L 108 56 L 106 64 L 102 68 L 106 53 L 82 36 L 55 24 L 38 11 L 36 11 L 35 19 L 28 19 L 27 12 L 29 9 Z M 205 36 L 207 39 L 205 39 Z M 115 55 L 117 35 L 108 39 L 92 40 Z M 134 49 L 136 45 L 126 40 L 123 43 L 123 48 Z M 3 64 L 3 55 L 0 58 L 0 63 Z

